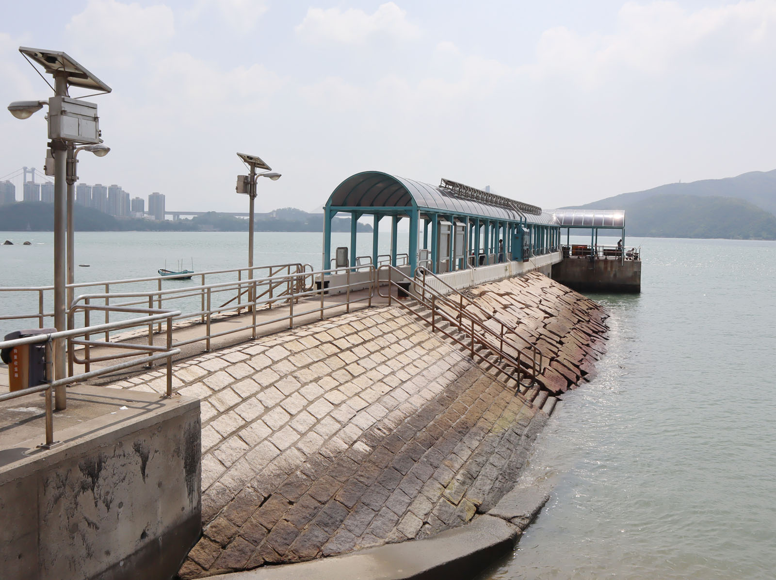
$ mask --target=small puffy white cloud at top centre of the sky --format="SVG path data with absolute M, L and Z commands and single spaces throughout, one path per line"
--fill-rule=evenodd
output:
M 393 2 L 381 4 L 373 14 L 359 9 L 310 8 L 296 33 L 310 43 L 364 44 L 374 37 L 413 40 L 421 31 L 406 16 Z

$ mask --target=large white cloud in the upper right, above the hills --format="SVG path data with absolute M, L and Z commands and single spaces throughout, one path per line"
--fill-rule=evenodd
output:
M 658 77 L 694 68 L 716 75 L 738 57 L 774 44 L 776 2 L 752 0 L 695 12 L 677 2 L 627 2 L 611 34 L 581 35 L 560 26 L 542 33 L 536 61 L 525 67 L 538 78 L 573 79 L 587 89 L 622 71 Z M 769 34 L 770 33 L 770 34 Z

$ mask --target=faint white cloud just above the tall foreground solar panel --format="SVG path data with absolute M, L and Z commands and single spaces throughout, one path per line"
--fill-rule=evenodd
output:
M 143 7 L 116 0 L 89 0 L 65 30 L 78 54 L 89 55 L 89 66 L 126 68 L 171 40 L 175 19 L 166 5 Z

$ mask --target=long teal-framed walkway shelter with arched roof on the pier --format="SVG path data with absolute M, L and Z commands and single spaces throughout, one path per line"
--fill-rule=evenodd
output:
M 331 221 L 351 217 L 347 248 L 332 258 Z M 371 255 L 357 255 L 356 222 L 372 217 Z M 379 255 L 379 224 L 390 219 L 390 254 Z M 400 221 L 409 222 L 407 253 L 397 253 Z M 541 207 L 442 179 L 439 186 L 383 172 L 351 175 L 324 207 L 323 267 L 390 264 L 414 273 L 452 273 L 558 252 L 559 224 Z

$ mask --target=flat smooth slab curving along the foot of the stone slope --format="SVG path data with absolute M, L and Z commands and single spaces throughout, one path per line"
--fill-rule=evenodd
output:
M 222 580 L 404 580 L 472 578 L 518 541 L 518 527 L 492 516 L 425 540 L 389 544 L 347 556 L 213 576 Z

